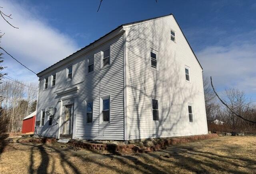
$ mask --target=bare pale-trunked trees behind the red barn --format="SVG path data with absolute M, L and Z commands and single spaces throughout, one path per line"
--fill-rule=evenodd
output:
M 8 120 L 8 132 L 19 132 L 23 118 L 36 110 L 37 86 L 18 80 L 4 80 L 0 84 L 1 119 Z

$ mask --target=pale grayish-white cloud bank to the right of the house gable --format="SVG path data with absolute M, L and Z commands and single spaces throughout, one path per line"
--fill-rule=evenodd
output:
M 211 46 L 198 51 L 198 59 L 207 76 L 218 88 L 230 86 L 256 93 L 256 44 L 241 42 L 227 46 Z

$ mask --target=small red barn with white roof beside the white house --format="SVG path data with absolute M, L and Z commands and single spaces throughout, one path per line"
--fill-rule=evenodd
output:
M 34 134 L 35 131 L 35 122 L 36 122 L 36 111 L 30 113 L 23 119 L 22 123 L 22 133 L 31 133 Z

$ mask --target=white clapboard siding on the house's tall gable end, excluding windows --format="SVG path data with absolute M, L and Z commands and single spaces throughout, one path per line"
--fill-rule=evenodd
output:
M 125 30 L 128 139 L 206 134 L 202 69 L 174 17 L 136 23 Z M 158 70 L 150 66 L 151 49 L 158 52 Z M 191 82 L 186 81 L 185 66 L 190 67 Z M 160 121 L 152 121 L 152 96 L 160 98 Z M 193 124 L 188 103 L 193 104 Z

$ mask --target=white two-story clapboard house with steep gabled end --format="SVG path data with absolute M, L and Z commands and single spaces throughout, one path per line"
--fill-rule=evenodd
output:
M 38 77 L 35 134 L 42 137 L 208 133 L 202 67 L 172 14 L 120 25 Z

